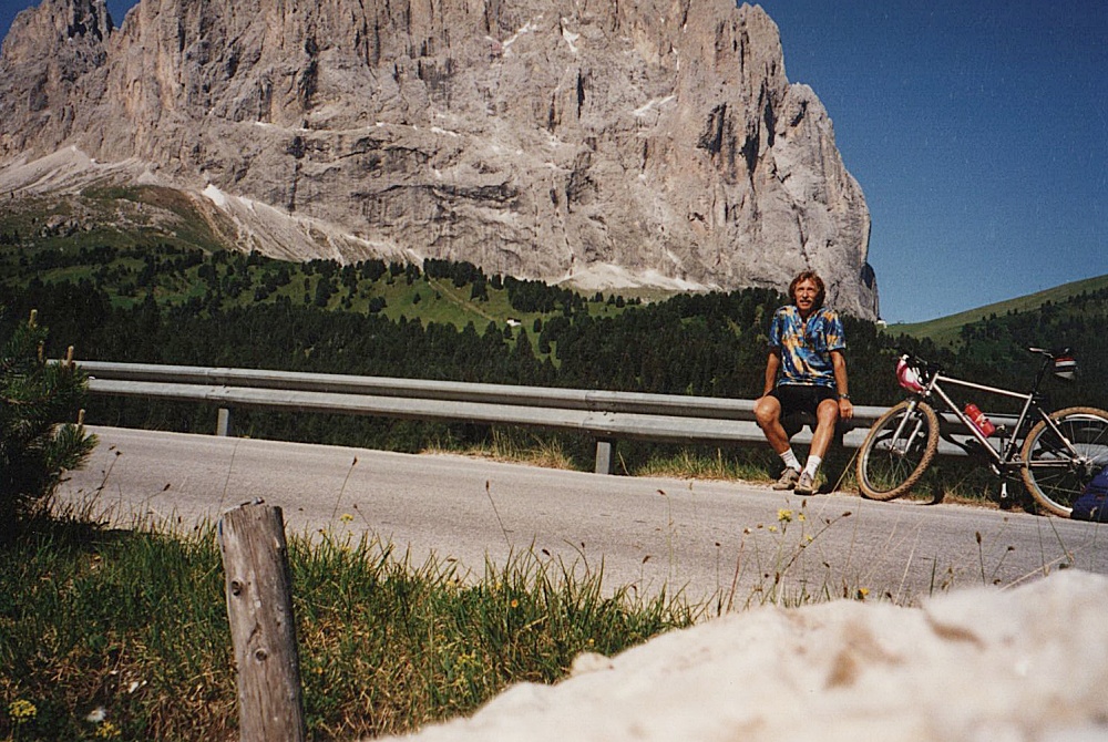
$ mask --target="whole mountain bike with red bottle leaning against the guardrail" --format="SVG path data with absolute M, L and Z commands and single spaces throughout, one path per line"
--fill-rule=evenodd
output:
M 856 468 L 862 495 L 888 501 L 907 493 L 931 465 L 942 436 L 968 454 L 984 456 L 1001 477 L 1002 498 L 1007 497 L 1008 478 L 1018 472 L 1045 511 L 1069 517 L 1073 502 L 1096 473 L 1108 466 L 1108 412 L 1087 406 L 1044 410 L 1038 390 L 1047 371 L 1054 368 L 1056 375 L 1071 378 L 1076 362 L 1069 349 L 1028 351 L 1044 360 L 1027 393 L 956 379 L 937 364 L 902 355 L 896 375 L 912 396 L 881 415 L 859 449 Z M 944 385 L 1022 400 L 1023 409 L 1010 430 L 995 426 L 973 405 L 962 409 L 955 404 Z M 945 430 L 932 404 L 953 414 L 953 421 L 948 416 L 944 421 Z M 961 440 L 951 432 L 951 422 L 954 431 L 964 429 Z

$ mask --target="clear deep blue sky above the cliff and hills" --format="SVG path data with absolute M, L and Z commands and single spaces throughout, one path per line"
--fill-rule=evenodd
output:
M 885 320 L 1108 274 L 1106 0 L 760 4 L 865 193 Z

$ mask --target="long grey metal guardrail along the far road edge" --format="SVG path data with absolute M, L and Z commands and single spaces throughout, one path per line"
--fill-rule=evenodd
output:
M 90 375 L 94 394 L 218 404 L 217 435 L 230 434 L 235 408 L 566 430 L 596 440 L 597 473 L 612 472 L 613 446 L 619 440 L 765 441 L 752 400 L 106 361 L 79 365 Z M 854 419 L 841 423 L 842 445 L 859 447 L 885 410 L 855 406 Z M 809 443 L 811 431 L 793 440 Z M 942 452 L 960 453 L 945 443 Z

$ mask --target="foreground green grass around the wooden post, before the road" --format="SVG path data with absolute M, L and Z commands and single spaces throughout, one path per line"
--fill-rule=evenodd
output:
M 606 595 L 602 574 L 519 554 L 483 576 L 391 544 L 289 539 L 312 739 L 402 733 L 505 686 L 554 682 L 699 608 Z M 226 739 L 236 677 L 212 527 L 41 522 L 0 555 L 0 739 Z M 4 713 L 3 711 L 7 711 Z

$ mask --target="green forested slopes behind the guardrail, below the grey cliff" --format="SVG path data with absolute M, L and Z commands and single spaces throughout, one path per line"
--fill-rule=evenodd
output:
M 51 332 L 44 352 L 74 346 L 84 360 L 752 399 L 765 383 L 769 318 L 784 300 L 768 289 L 654 301 L 583 296 L 443 260 L 291 264 L 166 243 L 4 239 L 0 329 L 35 309 Z M 903 352 L 962 379 L 1024 390 L 1038 368 L 1028 346 L 1069 346 L 1080 371 L 1070 382 L 1047 380 L 1050 406 L 1108 408 L 1108 277 L 919 326 L 844 323 L 859 404 L 903 399 L 893 373 Z M 974 401 L 1012 412 L 998 404 L 1006 400 Z M 124 399 L 95 399 L 88 410 L 96 424 L 181 431 L 209 431 L 214 415 L 212 405 Z M 265 410 L 243 411 L 236 426 L 256 437 L 397 451 L 488 444 L 500 434 Z M 544 434 L 541 445 L 553 437 L 574 461 L 592 460 L 587 436 Z M 620 460 L 632 471 L 659 447 L 624 442 Z M 751 456 L 765 453 L 755 449 Z

